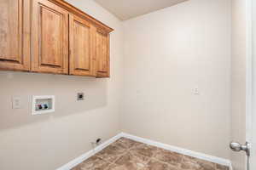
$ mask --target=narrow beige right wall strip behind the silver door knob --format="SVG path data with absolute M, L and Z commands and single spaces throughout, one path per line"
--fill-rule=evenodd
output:
M 246 142 L 246 2 L 232 1 L 231 139 L 240 143 Z M 232 151 L 230 154 L 234 169 L 245 169 L 245 154 Z

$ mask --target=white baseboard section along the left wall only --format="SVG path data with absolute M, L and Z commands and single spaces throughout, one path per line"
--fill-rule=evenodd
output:
M 103 150 L 109 144 L 112 144 L 114 141 L 116 141 L 117 139 L 119 139 L 121 137 L 122 137 L 121 133 L 119 133 L 118 135 L 114 136 L 112 139 L 108 139 L 106 142 L 98 145 L 94 150 L 89 150 L 88 152 L 84 153 L 82 156 L 75 158 L 73 161 L 69 161 L 67 164 L 63 165 L 62 167 L 57 168 L 56 170 L 70 170 L 73 167 L 76 167 L 77 165 L 79 165 L 79 163 L 85 161 L 90 156 L 94 156 L 97 152 Z

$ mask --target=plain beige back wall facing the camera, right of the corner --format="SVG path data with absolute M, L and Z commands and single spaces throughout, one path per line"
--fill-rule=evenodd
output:
M 123 131 L 230 158 L 230 0 L 189 0 L 124 26 Z

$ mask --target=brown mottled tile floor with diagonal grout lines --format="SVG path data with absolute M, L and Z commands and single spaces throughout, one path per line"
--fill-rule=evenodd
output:
M 121 138 L 72 170 L 229 170 L 228 167 Z

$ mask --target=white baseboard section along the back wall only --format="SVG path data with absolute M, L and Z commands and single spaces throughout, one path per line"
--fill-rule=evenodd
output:
M 154 145 L 156 147 L 159 147 L 159 148 L 162 148 L 162 149 L 165 149 L 165 150 L 174 151 L 174 152 L 186 155 L 186 156 L 192 156 L 192 157 L 195 157 L 195 158 L 198 158 L 198 159 L 201 159 L 201 160 L 211 161 L 211 162 L 214 162 L 214 163 L 218 163 L 220 165 L 230 167 L 230 160 L 227 160 L 227 159 L 224 159 L 224 158 L 220 158 L 220 157 L 216 157 L 216 156 L 208 156 L 208 155 L 200 153 L 200 152 L 195 152 L 195 151 L 192 151 L 192 150 L 186 150 L 186 149 L 183 149 L 183 148 L 179 148 L 177 146 L 172 146 L 172 145 L 169 145 L 169 144 L 163 144 L 163 143 L 156 142 L 156 141 L 153 141 L 153 140 L 150 140 L 150 139 L 143 139 L 143 138 L 140 138 L 140 137 L 128 134 L 128 133 L 122 133 L 121 136 L 123 136 L 125 138 L 128 138 L 128 139 L 133 139 L 133 140 L 138 141 L 138 142 L 142 142 L 144 144 Z

